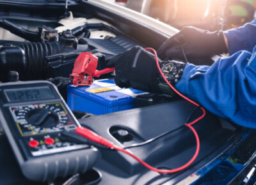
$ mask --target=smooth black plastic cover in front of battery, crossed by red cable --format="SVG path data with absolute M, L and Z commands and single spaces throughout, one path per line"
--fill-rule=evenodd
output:
M 184 125 L 189 114 L 194 111 L 194 105 L 184 100 L 178 100 L 151 107 L 90 117 L 81 119 L 79 122 L 114 144 L 127 147 L 157 137 L 166 131 L 179 128 Z M 191 116 L 191 121 L 201 114 L 200 109 L 196 110 L 195 114 Z M 196 161 L 200 161 L 203 156 L 211 154 L 225 142 L 225 139 L 232 135 L 234 127 L 228 122 L 225 122 L 225 124 L 229 125 L 229 129 L 223 128 L 223 122 L 210 113 L 207 113 L 204 119 L 195 124 L 194 128 L 202 142 L 200 154 Z M 113 129 L 116 128 L 128 131 L 133 139 L 127 142 L 124 142 L 124 140 L 118 141 L 116 135 L 111 135 Z M 212 140 L 214 140 L 214 144 L 212 144 Z M 189 128 L 184 126 L 150 144 L 129 150 L 150 165 L 157 167 L 157 164 L 168 160 L 165 165 L 166 168 L 177 168 L 192 158 L 195 147 L 195 136 Z M 102 158 L 126 174 L 134 175 L 146 170 L 138 161 L 120 152 L 102 150 Z

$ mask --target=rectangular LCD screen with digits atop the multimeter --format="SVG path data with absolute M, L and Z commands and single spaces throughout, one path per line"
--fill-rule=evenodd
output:
M 9 102 L 54 98 L 54 94 L 51 92 L 49 87 L 8 89 L 5 90 L 4 93 L 6 94 L 6 98 Z

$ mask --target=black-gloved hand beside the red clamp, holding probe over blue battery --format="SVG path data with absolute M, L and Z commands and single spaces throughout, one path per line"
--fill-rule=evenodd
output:
M 162 63 L 159 60 L 159 63 Z M 115 68 L 115 83 L 119 87 L 132 87 L 150 93 L 159 92 L 159 73 L 154 54 L 142 47 L 132 47 L 108 62 Z

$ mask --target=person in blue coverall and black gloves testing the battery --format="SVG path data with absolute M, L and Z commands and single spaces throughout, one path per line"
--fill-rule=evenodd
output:
M 168 81 L 191 100 L 220 117 L 248 128 L 256 128 L 256 20 L 227 31 L 205 31 L 184 27 L 158 50 L 159 66 Z M 228 52 L 211 66 L 197 66 L 173 59 L 211 57 Z M 172 59 L 170 61 L 170 59 Z M 189 60 L 188 60 L 189 61 Z M 152 93 L 164 92 L 155 56 L 133 47 L 111 59 L 115 82 Z M 172 91 L 170 89 L 170 91 Z

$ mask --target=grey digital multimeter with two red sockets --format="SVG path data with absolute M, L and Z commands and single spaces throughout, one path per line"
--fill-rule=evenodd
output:
M 22 173 L 33 181 L 51 181 L 83 173 L 98 157 L 97 149 L 60 138 L 77 120 L 47 81 L 0 84 L 0 125 Z

